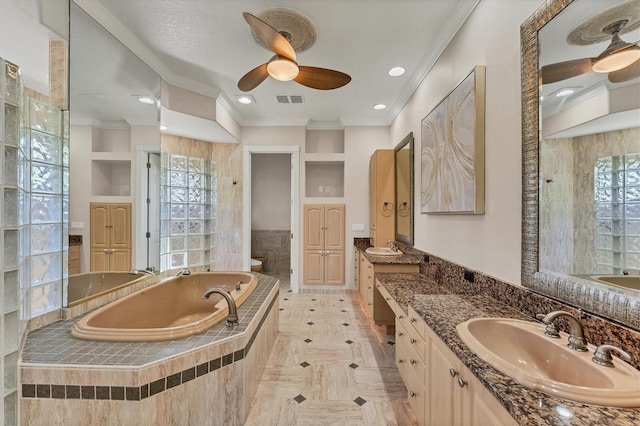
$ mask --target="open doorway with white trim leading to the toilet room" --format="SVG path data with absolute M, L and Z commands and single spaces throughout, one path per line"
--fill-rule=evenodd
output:
M 298 146 L 245 146 L 243 166 L 243 269 L 263 262 L 262 273 L 299 282 Z

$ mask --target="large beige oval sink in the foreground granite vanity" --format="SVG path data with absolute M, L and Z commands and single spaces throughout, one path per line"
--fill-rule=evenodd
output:
M 640 372 L 614 357 L 615 368 L 569 349 L 567 334 L 545 336 L 542 324 L 509 318 L 476 318 L 458 324 L 464 343 L 521 385 L 587 404 L 640 407 Z

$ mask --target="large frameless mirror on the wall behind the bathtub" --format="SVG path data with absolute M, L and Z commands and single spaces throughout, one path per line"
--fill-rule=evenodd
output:
M 82 245 L 80 273 L 70 272 L 63 306 L 95 297 L 97 286 L 87 283 L 108 291 L 160 266 L 160 77 L 87 13 L 86 3 L 70 1 L 69 233 L 82 236 Z M 104 217 L 130 229 L 117 249 L 96 243 L 103 234 L 115 239 L 97 230 L 115 228 Z

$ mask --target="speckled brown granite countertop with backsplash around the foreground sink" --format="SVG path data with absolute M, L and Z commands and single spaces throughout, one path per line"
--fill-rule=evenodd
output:
M 420 314 L 519 424 L 640 424 L 640 409 L 586 405 L 519 385 L 474 355 L 455 328 L 476 317 L 533 321 L 538 312 L 555 309 L 575 312 L 575 309 L 478 272 L 474 273 L 473 283 L 464 281 L 464 268 L 434 256 L 429 256 L 428 263 L 421 263 L 421 271 L 420 274 L 376 274 L 376 278 L 402 309 L 407 311 L 411 305 Z M 434 279 L 434 275 L 439 278 Z M 640 333 L 593 316 L 584 317 L 583 323 L 589 343 L 623 347 L 632 352 L 633 365 L 639 367 Z M 562 416 L 566 413 L 572 416 L 570 420 Z

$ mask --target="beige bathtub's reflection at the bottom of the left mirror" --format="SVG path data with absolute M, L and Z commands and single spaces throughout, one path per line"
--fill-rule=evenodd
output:
M 71 275 L 68 286 L 68 306 L 76 306 L 145 278 L 148 278 L 148 275 L 129 272 L 86 272 Z

